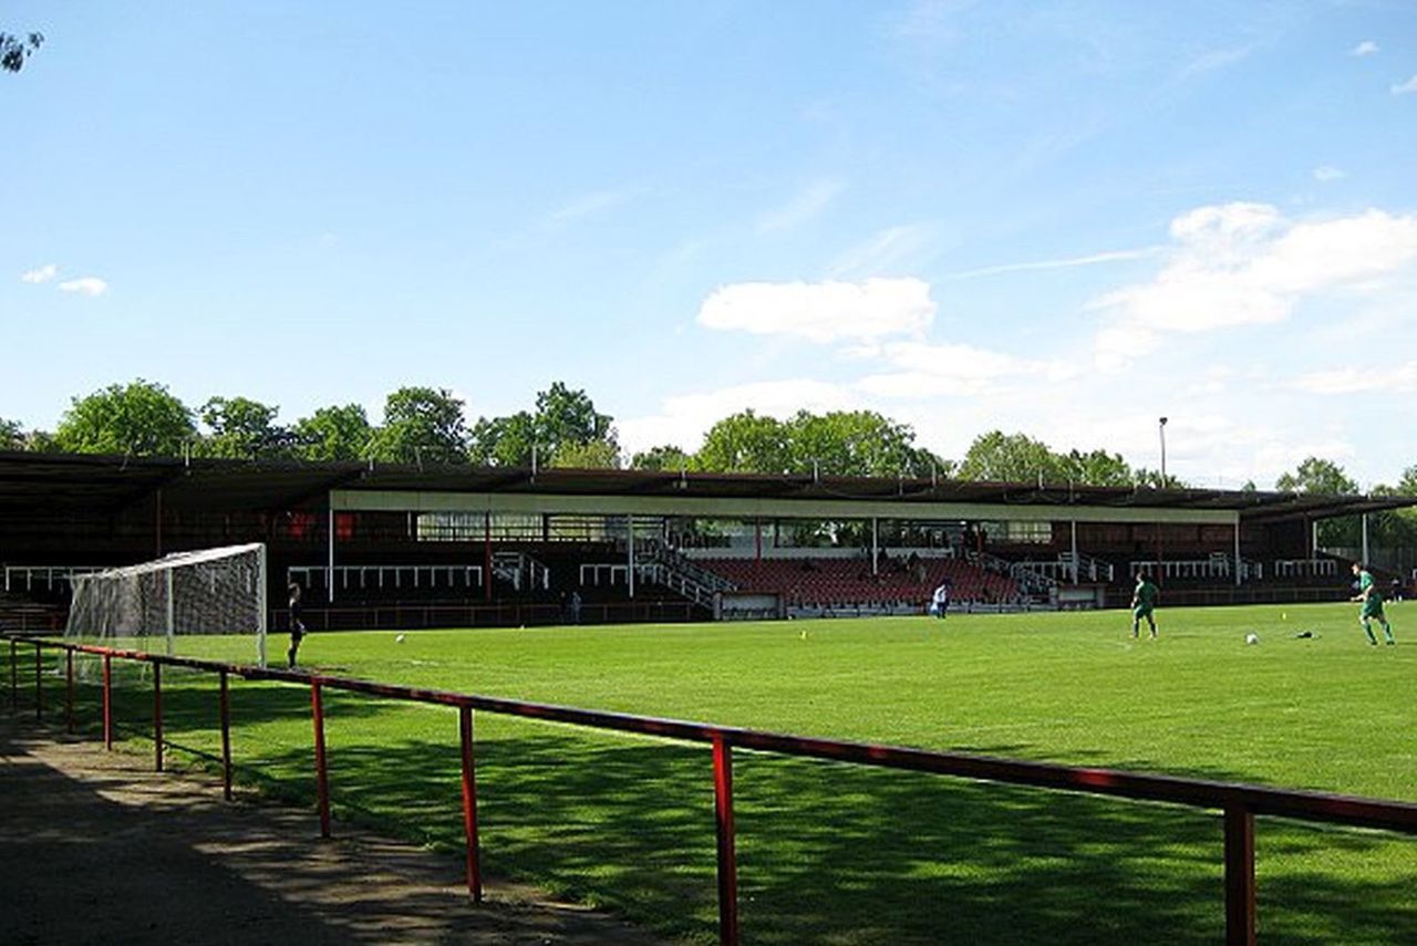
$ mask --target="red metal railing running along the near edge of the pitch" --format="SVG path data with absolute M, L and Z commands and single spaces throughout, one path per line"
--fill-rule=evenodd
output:
M 927 752 L 901 746 L 870 745 L 860 742 L 839 742 L 833 739 L 812 739 L 758 729 L 716 726 L 683 719 L 662 719 L 636 717 L 622 712 L 580 710 L 543 702 L 521 702 L 451 693 L 445 690 L 422 690 L 356 680 L 307 674 L 290 670 L 262 668 L 254 666 L 222 664 L 190 657 L 147 654 L 133 650 L 115 650 L 64 642 L 10 636 L 10 705 L 18 707 L 18 642 L 28 643 L 35 650 L 35 717 L 43 715 L 41 701 L 41 650 L 64 650 L 67 664 L 72 667 L 74 653 L 96 654 L 103 659 L 103 743 L 112 748 L 112 660 L 136 660 L 153 664 L 154 671 L 163 666 L 187 667 L 220 674 L 221 687 L 221 763 L 225 797 L 231 797 L 231 739 L 230 702 L 227 678 L 237 674 L 245 680 L 273 680 L 293 683 L 310 688 L 310 710 L 315 725 L 315 768 L 317 803 L 320 813 L 320 834 L 330 836 L 329 769 L 324 756 L 324 690 L 363 693 L 388 700 L 405 700 L 458 708 L 459 736 L 462 743 L 462 810 L 468 843 L 468 892 L 482 899 L 480 848 L 478 841 L 478 793 L 473 769 L 472 711 L 495 712 L 529 719 L 564 722 L 592 729 L 636 732 L 684 742 L 708 743 L 713 748 L 714 814 L 718 837 L 718 932 L 724 945 L 738 943 L 738 879 L 734 854 L 733 817 L 733 749 L 752 749 L 811 759 L 829 759 L 856 765 L 930 772 L 965 779 L 982 779 L 1023 785 L 1060 792 L 1081 792 L 1087 794 L 1110 794 L 1144 802 L 1165 802 L 1199 809 L 1217 809 L 1223 813 L 1224 830 L 1224 877 L 1226 877 L 1226 942 L 1238 946 L 1253 946 L 1255 942 L 1255 875 L 1254 875 L 1254 819 L 1274 816 L 1301 821 L 1321 821 L 1353 827 L 1380 828 L 1401 834 L 1417 834 L 1417 804 L 1389 802 L 1345 794 L 1318 792 L 1287 792 L 1231 782 L 1209 782 L 1180 779 L 1162 775 L 1138 775 L 1114 769 L 1084 769 L 1041 762 L 1019 762 L 989 756 L 954 752 Z M 74 715 L 72 670 L 65 688 L 68 717 Z M 159 743 L 157 768 L 162 769 L 162 697 L 160 673 L 154 673 L 154 739 Z

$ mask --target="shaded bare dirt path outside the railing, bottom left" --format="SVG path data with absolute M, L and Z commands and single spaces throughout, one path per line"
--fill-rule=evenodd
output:
M 475 905 L 458 858 L 150 769 L 0 711 L 0 943 L 662 942 L 506 884 Z

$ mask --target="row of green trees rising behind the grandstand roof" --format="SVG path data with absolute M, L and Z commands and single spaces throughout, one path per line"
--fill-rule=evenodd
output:
M 385 463 L 472 463 L 711 473 L 768 473 L 877 477 L 941 477 L 1080 486 L 1185 487 L 1175 474 L 1134 467 L 1107 450 L 1056 452 L 1024 433 L 990 431 L 975 438 L 961 460 L 915 443 L 915 431 L 874 411 L 799 411 L 778 419 L 740 411 L 714 423 L 697 450 L 673 445 L 626 456 L 615 419 L 585 391 L 561 381 L 537 392 L 529 409 L 482 416 L 470 426 L 465 404 L 446 388 L 404 387 L 384 399 L 373 422 L 357 404 L 330 405 L 293 423 L 278 423 L 279 408 L 245 397 L 213 397 L 190 408 L 164 385 L 142 378 L 75 397 L 51 431 L 26 431 L 0 418 L 0 449 L 197 456 L 248 460 L 374 460 Z M 1275 480 L 1278 490 L 1353 494 L 1342 466 L 1309 457 Z M 1247 483 L 1244 489 L 1255 489 Z M 1417 496 L 1417 465 L 1374 494 Z M 1417 515 L 1376 514 L 1370 538 L 1417 545 Z M 1321 524 L 1325 545 L 1355 545 L 1356 521 Z

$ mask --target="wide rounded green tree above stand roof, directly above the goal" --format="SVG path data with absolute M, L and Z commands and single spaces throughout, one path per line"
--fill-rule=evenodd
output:
M 54 442 L 69 453 L 180 456 L 196 436 L 191 409 L 163 385 L 139 378 L 74 398 Z

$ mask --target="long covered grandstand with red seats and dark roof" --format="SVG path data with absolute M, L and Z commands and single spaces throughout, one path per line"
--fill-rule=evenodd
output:
M 0 620 L 68 575 L 259 541 L 320 627 L 1333 600 L 1315 524 L 1414 497 L 0 453 Z M 1379 579 L 1396 575 L 1374 569 Z M 571 615 L 572 602 L 577 613 Z M 6 615 L 10 615 L 7 619 Z

